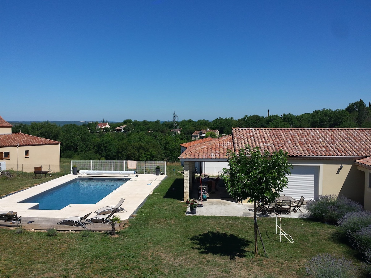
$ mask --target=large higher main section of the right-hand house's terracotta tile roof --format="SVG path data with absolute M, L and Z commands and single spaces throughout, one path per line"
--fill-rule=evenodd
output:
M 238 150 L 249 144 L 262 152 L 283 149 L 289 156 L 362 157 L 371 154 L 371 129 L 363 128 L 233 128 Z

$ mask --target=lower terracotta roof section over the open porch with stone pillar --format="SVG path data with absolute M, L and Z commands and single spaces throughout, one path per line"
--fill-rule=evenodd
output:
M 211 140 L 190 146 L 179 156 L 179 158 L 227 159 L 227 150 L 229 149 L 233 149 L 232 135 L 223 136 L 217 139 L 211 138 Z

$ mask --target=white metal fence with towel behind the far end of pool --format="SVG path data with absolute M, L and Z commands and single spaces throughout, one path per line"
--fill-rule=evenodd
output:
M 72 166 L 78 170 L 96 171 L 130 171 L 135 170 L 139 174 L 155 174 L 156 167 L 160 166 L 160 172 L 166 175 L 166 161 L 139 161 L 139 160 L 71 160 Z

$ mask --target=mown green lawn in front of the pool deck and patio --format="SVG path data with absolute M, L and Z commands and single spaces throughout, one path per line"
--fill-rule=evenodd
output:
M 172 169 L 116 236 L 0 229 L 0 277 L 295 278 L 308 277 L 306 262 L 320 253 L 361 264 L 336 226 L 309 219 L 283 219 L 292 244 L 279 242 L 274 217 L 258 219 L 268 257 L 254 255 L 253 219 L 185 216 L 183 176 Z M 365 277 L 362 271 L 356 276 Z

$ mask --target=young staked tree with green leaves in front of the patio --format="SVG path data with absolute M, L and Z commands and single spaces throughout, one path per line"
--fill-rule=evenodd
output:
M 288 178 L 291 174 L 292 165 L 288 163 L 288 153 L 282 149 L 270 154 L 262 153 L 258 147 L 252 149 L 249 145 L 239 150 L 236 154 L 228 150 L 229 170 L 224 169 L 221 179 L 227 186 L 227 191 L 242 202 L 254 203 L 254 230 L 255 230 L 255 254 L 257 254 L 257 222 L 256 202 L 264 200 L 273 202 L 279 197 L 279 192 L 287 187 Z

